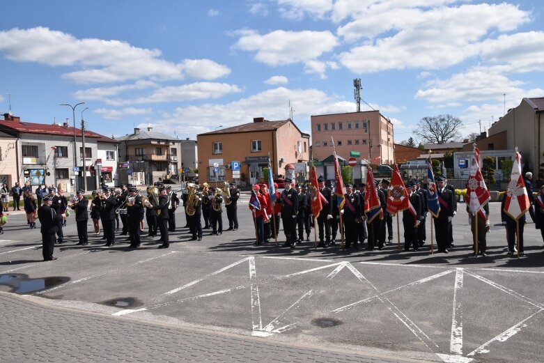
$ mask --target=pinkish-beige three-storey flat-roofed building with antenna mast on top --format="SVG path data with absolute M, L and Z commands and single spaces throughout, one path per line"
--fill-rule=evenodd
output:
M 348 160 L 355 156 L 372 164 L 393 164 L 393 123 L 380 111 L 311 116 L 312 157 L 325 160 L 333 154 Z M 357 156 L 358 155 L 358 156 Z

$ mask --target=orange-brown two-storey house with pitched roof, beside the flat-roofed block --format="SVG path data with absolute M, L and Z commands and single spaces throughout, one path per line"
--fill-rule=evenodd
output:
M 263 178 L 269 160 L 274 177 L 285 174 L 286 164 L 306 173 L 309 140 L 310 135 L 301 132 L 293 121 L 268 121 L 263 117 L 199 134 L 199 183 L 237 180 L 242 186 L 253 184 Z

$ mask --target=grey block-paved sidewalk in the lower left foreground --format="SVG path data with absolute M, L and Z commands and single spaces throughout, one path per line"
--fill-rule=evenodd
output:
M 52 307 L 0 292 L 0 362 L 421 362 Z

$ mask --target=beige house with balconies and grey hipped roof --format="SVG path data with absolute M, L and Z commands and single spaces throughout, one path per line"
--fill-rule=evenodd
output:
M 116 137 L 119 145 L 119 182 L 150 185 L 171 178 L 181 167 L 181 143 L 176 137 L 153 128 Z

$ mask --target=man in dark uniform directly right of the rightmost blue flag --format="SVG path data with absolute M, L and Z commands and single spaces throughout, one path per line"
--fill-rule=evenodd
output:
M 451 190 L 444 187 L 444 177 L 436 178 L 438 202 L 440 203 L 440 212 L 438 217 L 434 217 L 436 229 L 436 244 L 438 252 L 448 253 L 449 242 L 449 226 L 453 219 L 453 199 L 455 195 Z

